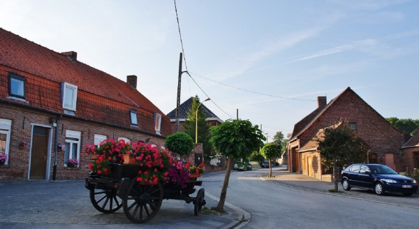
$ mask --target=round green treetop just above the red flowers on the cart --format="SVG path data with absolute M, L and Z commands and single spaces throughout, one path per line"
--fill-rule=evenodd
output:
M 188 155 L 193 149 L 193 140 L 187 133 L 176 132 L 166 138 L 166 148 L 180 156 Z

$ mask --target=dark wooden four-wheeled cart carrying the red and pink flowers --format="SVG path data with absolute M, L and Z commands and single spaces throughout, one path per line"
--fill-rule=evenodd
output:
M 157 184 L 141 184 L 137 182 L 138 171 L 143 168 L 135 164 L 111 164 L 111 173 L 97 175 L 91 172 L 86 178 L 85 187 L 90 191 L 91 204 L 103 213 L 113 213 L 123 207 L 125 216 L 134 223 L 145 223 L 159 212 L 163 199 L 184 200 L 193 202 L 194 214 L 198 216 L 205 205 L 205 190 L 198 190 L 202 181 L 189 178 L 186 187 L 166 182 Z

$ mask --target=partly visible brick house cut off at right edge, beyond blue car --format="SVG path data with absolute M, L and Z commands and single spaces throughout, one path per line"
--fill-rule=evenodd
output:
M 404 168 L 411 173 L 415 168 L 419 169 L 419 128 L 413 133 L 413 137 L 402 147 Z

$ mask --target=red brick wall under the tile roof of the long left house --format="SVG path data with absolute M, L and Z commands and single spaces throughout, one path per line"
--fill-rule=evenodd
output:
M 25 140 L 31 142 L 32 125 L 50 126 L 50 117 L 57 117 L 55 114 L 48 112 L 41 112 L 21 107 L 19 105 L 10 105 L 7 103 L 0 103 L 0 118 L 12 120 L 10 133 L 10 147 L 8 165 L 0 167 L 0 179 L 27 179 L 29 173 L 29 149 L 17 149 L 18 142 Z M 89 157 L 84 156 L 83 148 L 86 144 L 94 143 L 94 134 L 107 135 L 108 139 L 129 138 L 132 141 L 151 138 L 151 144 L 158 146 L 164 145 L 164 138 L 156 135 L 148 135 L 146 133 L 138 133 L 129 129 L 117 128 L 114 126 L 106 126 L 103 124 L 96 124 L 91 121 L 83 121 L 74 119 L 72 117 L 63 117 L 59 120 L 59 144 L 64 145 L 66 138 L 66 130 L 80 131 L 81 149 L 80 149 L 80 167 L 66 168 L 64 167 L 64 151 L 58 153 L 58 165 L 56 179 L 83 179 L 87 176 L 87 165 Z M 55 128 L 52 128 L 52 139 L 55 139 Z M 54 145 L 52 145 L 52 148 Z M 50 149 L 50 179 L 52 179 L 52 172 L 54 167 L 54 150 Z

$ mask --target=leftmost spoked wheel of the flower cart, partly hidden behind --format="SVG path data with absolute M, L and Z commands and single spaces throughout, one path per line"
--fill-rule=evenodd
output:
M 122 207 L 122 200 L 117 196 L 117 189 L 96 186 L 90 189 L 90 201 L 99 212 L 113 213 Z

